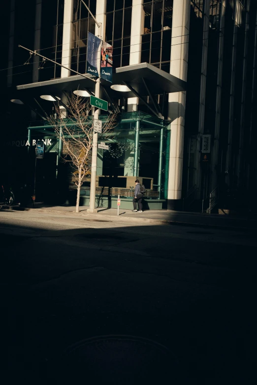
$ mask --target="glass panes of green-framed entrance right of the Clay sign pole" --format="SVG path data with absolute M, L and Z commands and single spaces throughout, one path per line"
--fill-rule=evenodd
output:
M 159 191 L 164 189 L 164 180 L 160 180 L 160 161 L 162 167 L 166 170 L 166 158 L 164 153 L 160 156 L 160 127 L 150 124 L 151 122 L 160 122 L 160 119 L 153 118 L 147 113 L 124 113 L 123 118 L 143 118 L 144 122 L 140 122 L 139 129 L 139 159 L 137 176 L 141 179 L 141 183 L 145 185 L 147 193 L 145 198 L 159 199 L 163 197 Z M 150 123 L 147 122 L 149 120 Z M 121 121 L 115 127 L 114 132 L 117 133 L 114 139 L 109 141 L 109 134 L 104 135 L 104 141 L 109 142 L 109 151 L 98 150 L 99 162 L 97 167 L 97 183 L 99 187 L 116 188 L 117 194 L 124 194 L 131 200 L 134 188 L 134 162 L 135 162 L 135 123 Z M 166 134 L 166 133 L 165 133 Z M 164 148 L 166 148 L 166 135 L 162 137 Z M 111 178 L 110 178 L 111 177 Z M 165 175 L 162 175 L 165 177 Z M 161 186 L 158 185 L 161 181 Z M 97 186 L 97 187 L 98 187 Z M 132 188 L 131 188 L 132 187 Z M 118 191 L 122 188 L 122 192 Z

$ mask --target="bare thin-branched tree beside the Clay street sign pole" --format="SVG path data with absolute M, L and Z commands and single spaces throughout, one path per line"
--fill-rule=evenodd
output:
M 85 177 L 91 174 L 91 157 L 94 133 L 94 118 L 91 115 L 92 107 L 85 98 L 74 95 L 67 96 L 68 111 L 64 116 L 62 106 L 56 108 L 56 118 L 52 118 L 52 124 L 56 136 L 63 141 L 64 162 L 71 162 L 73 180 L 77 186 L 76 210 L 79 212 L 80 188 Z M 106 134 L 116 125 L 116 115 L 110 114 L 104 117 L 102 122 L 102 134 Z

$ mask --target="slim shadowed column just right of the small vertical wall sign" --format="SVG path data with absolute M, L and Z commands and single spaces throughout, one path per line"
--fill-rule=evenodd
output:
M 222 93 L 222 69 L 224 52 L 224 29 L 225 29 L 225 7 L 226 2 L 222 0 L 220 13 L 220 37 L 219 37 L 219 56 L 218 56 L 218 76 L 216 92 L 216 114 L 215 131 L 212 146 L 212 182 L 211 191 L 218 185 L 217 167 L 219 163 L 219 141 L 220 141 L 220 120 L 221 120 L 221 93 Z

